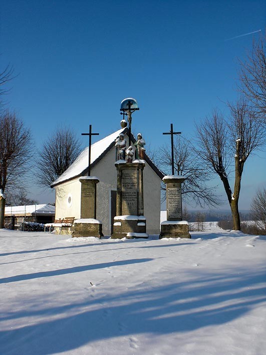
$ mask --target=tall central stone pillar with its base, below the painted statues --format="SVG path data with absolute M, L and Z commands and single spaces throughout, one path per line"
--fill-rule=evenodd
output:
M 112 238 L 147 238 L 143 206 L 145 162 L 116 163 L 117 216 Z

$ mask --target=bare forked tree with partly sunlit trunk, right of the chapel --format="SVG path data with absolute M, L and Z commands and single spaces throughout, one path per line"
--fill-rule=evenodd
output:
M 265 143 L 265 132 L 257 124 L 254 112 L 245 100 L 228 104 L 230 119 L 226 122 L 220 112 L 214 110 L 210 118 L 197 125 L 198 154 L 211 172 L 218 174 L 226 193 L 233 229 L 240 230 L 238 200 L 244 164 L 255 150 Z M 230 188 L 228 174 L 234 160 L 234 189 Z

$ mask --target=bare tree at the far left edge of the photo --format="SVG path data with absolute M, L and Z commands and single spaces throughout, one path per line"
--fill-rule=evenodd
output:
M 14 113 L 0 114 L 0 228 L 4 227 L 5 190 L 17 188 L 32 157 L 30 131 Z

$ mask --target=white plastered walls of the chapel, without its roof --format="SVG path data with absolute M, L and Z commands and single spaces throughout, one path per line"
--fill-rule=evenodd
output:
M 128 141 L 128 139 L 127 139 Z M 96 218 L 103 222 L 103 234 L 111 231 L 111 190 L 116 190 L 117 170 L 115 167 L 115 147 L 91 169 L 91 176 L 97 176 Z M 160 184 L 161 179 L 146 163 L 143 170 L 144 216 L 147 219 L 147 233 L 160 233 Z M 68 196 L 72 194 L 72 205 Z M 80 218 L 81 183 L 77 179 L 56 186 L 56 218 Z

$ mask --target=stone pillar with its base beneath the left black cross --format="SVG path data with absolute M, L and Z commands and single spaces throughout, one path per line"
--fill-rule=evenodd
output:
M 81 182 L 80 219 L 73 224 L 72 238 L 102 237 L 102 222 L 96 219 L 96 185 L 99 179 L 95 176 L 83 176 Z

